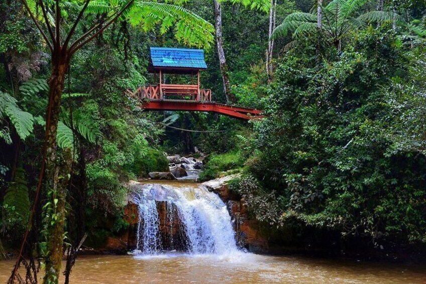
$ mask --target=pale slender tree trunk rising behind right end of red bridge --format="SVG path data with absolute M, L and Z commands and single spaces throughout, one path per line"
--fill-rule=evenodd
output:
M 218 48 L 219 63 L 221 67 L 222 80 L 224 83 L 224 92 L 227 102 L 235 103 L 235 96 L 231 91 L 231 82 L 229 80 L 229 70 L 226 63 L 225 51 L 222 39 L 222 7 L 218 0 L 215 3 L 215 26 L 216 26 L 216 46 Z

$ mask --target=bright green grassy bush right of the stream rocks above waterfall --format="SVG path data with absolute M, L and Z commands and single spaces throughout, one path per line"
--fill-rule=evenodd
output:
M 245 158 L 240 151 L 212 154 L 205 160 L 204 169 L 200 173 L 199 180 L 214 179 L 218 177 L 220 172 L 243 167 L 244 162 Z

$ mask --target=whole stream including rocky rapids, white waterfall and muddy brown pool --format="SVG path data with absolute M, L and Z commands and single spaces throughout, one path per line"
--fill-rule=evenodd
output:
M 197 173 L 133 182 L 136 249 L 130 255 L 79 256 L 71 283 L 426 283 L 426 266 L 241 250 L 224 202 L 189 181 Z M 0 261 L 0 282 L 13 264 Z

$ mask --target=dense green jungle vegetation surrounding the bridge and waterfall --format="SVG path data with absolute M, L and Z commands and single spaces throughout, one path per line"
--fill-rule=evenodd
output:
M 2 1 L 0 259 L 43 258 L 56 282 L 63 246 L 127 227 L 126 182 L 194 147 L 201 179 L 242 174 L 231 189 L 265 226 L 424 247 L 425 13 L 420 0 Z M 204 48 L 201 85 L 264 118 L 144 111 L 126 90 L 153 82 L 150 46 Z

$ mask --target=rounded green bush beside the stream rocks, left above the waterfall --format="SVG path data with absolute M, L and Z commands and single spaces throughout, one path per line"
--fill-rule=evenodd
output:
M 146 177 L 152 171 L 169 171 L 169 162 L 163 152 L 150 149 L 143 158 L 135 161 L 131 171 L 136 176 Z

